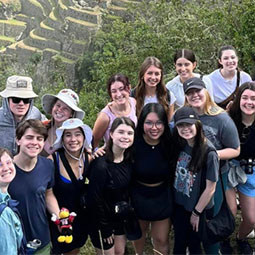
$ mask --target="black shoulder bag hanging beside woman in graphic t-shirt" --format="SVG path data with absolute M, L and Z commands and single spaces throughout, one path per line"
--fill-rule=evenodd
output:
M 200 216 L 198 234 L 204 244 L 211 245 L 228 238 L 235 231 L 235 217 L 228 207 L 225 189 L 223 186 L 222 174 L 220 172 L 220 182 L 223 193 L 223 202 L 219 212 L 208 219 L 206 210 Z M 205 182 L 205 176 L 202 178 L 201 186 Z

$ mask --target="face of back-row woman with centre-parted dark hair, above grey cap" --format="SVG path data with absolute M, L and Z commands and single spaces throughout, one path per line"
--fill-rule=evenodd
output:
M 186 58 L 178 58 L 175 63 L 175 70 L 180 75 L 182 82 L 193 77 L 193 70 L 196 67 L 196 62 L 192 63 Z

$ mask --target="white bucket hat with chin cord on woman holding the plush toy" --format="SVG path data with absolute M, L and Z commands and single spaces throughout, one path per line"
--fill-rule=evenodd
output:
M 84 147 L 88 150 L 91 149 L 92 130 L 88 125 L 84 124 L 82 120 L 77 118 L 71 118 L 71 119 L 65 120 L 62 123 L 62 126 L 57 128 L 56 130 L 57 139 L 55 143 L 53 144 L 53 148 L 57 150 L 63 147 L 62 136 L 66 129 L 74 129 L 78 127 L 82 128 L 83 133 L 85 135 Z

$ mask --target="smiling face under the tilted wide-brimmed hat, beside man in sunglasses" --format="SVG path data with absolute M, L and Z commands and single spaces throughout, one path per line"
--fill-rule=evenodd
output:
M 57 100 L 51 110 L 51 115 L 57 124 L 62 124 L 72 117 L 73 110 L 61 100 Z

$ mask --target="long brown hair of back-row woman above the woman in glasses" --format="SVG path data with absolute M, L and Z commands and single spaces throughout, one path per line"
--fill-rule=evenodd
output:
M 135 88 L 135 98 L 136 98 L 136 114 L 137 117 L 139 117 L 143 105 L 144 105 L 144 98 L 145 98 L 145 82 L 144 82 L 144 74 L 146 73 L 147 69 L 150 66 L 155 66 L 160 69 L 161 71 L 161 79 L 159 83 L 157 84 L 156 88 L 156 95 L 158 102 L 163 105 L 166 113 L 168 114 L 169 111 L 169 103 L 167 101 L 167 90 L 165 83 L 163 81 L 163 65 L 160 62 L 159 59 L 156 57 L 147 57 L 140 68 L 139 74 L 138 74 L 138 84 Z

